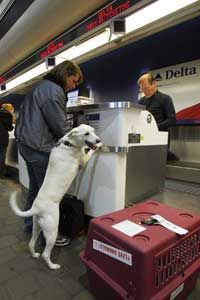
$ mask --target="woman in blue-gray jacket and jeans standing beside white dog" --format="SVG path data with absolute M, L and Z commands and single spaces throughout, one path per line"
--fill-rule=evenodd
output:
M 64 61 L 32 88 L 20 107 L 15 137 L 29 175 L 25 210 L 30 209 L 43 183 L 51 149 L 70 129 L 66 120 L 65 93 L 82 80 L 80 67 L 72 61 Z M 32 217 L 25 218 L 25 231 L 32 231 Z M 57 237 L 57 246 L 69 243 L 68 237 Z

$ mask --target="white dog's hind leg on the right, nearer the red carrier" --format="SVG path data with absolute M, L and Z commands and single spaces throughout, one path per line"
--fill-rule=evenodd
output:
M 49 266 L 50 269 L 52 270 L 56 270 L 60 268 L 60 265 L 58 264 L 54 264 L 51 261 L 51 251 L 53 249 L 53 246 L 55 244 L 56 238 L 57 238 L 57 230 L 52 231 L 51 233 L 45 233 L 45 238 L 46 238 L 46 247 L 44 249 L 44 252 L 42 253 L 42 257 L 44 258 L 44 260 L 46 261 L 47 265 Z

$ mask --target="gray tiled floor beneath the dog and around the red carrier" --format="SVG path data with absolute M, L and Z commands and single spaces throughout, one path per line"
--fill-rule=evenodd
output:
M 200 214 L 199 195 L 166 187 L 152 198 Z M 29 255 L 29 236 L 23 233 L 23 220 L 15 217 L 8 205 L 15 190 L 20 196 L 20 185 L 14 179 L 0 180 L 0 300 L 94 300 L 85 267 L 79 260 L 86 236 L 73 240 L 68 247 L 55 247 L 53 258 L 62 268 L 50 271 L 41 258 L 34 260 Z M 197 299 L 200 299 L 200 277 L 187 298 Z

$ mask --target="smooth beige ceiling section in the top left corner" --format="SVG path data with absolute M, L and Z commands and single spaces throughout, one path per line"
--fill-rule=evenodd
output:
M 0 74 L 107 3 L 108 0 L 34 0 L 0 40 Z

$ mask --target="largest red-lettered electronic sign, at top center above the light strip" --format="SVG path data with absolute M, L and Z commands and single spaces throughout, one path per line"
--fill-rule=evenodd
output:
M 112 4 L 106 7 L 105 9 L 102 9 L 95 20 L 93 20 L 91 23 L 86 25 L 86 30 L 90 31 L 97 27 L 98 25 L 106 22 L 107 20 L 119 15 L 121 12 L 127 10 L 131 7 L 131 1 L 126 1 L 124 3 L 121 3 L 117 7 L 113 8 Z

